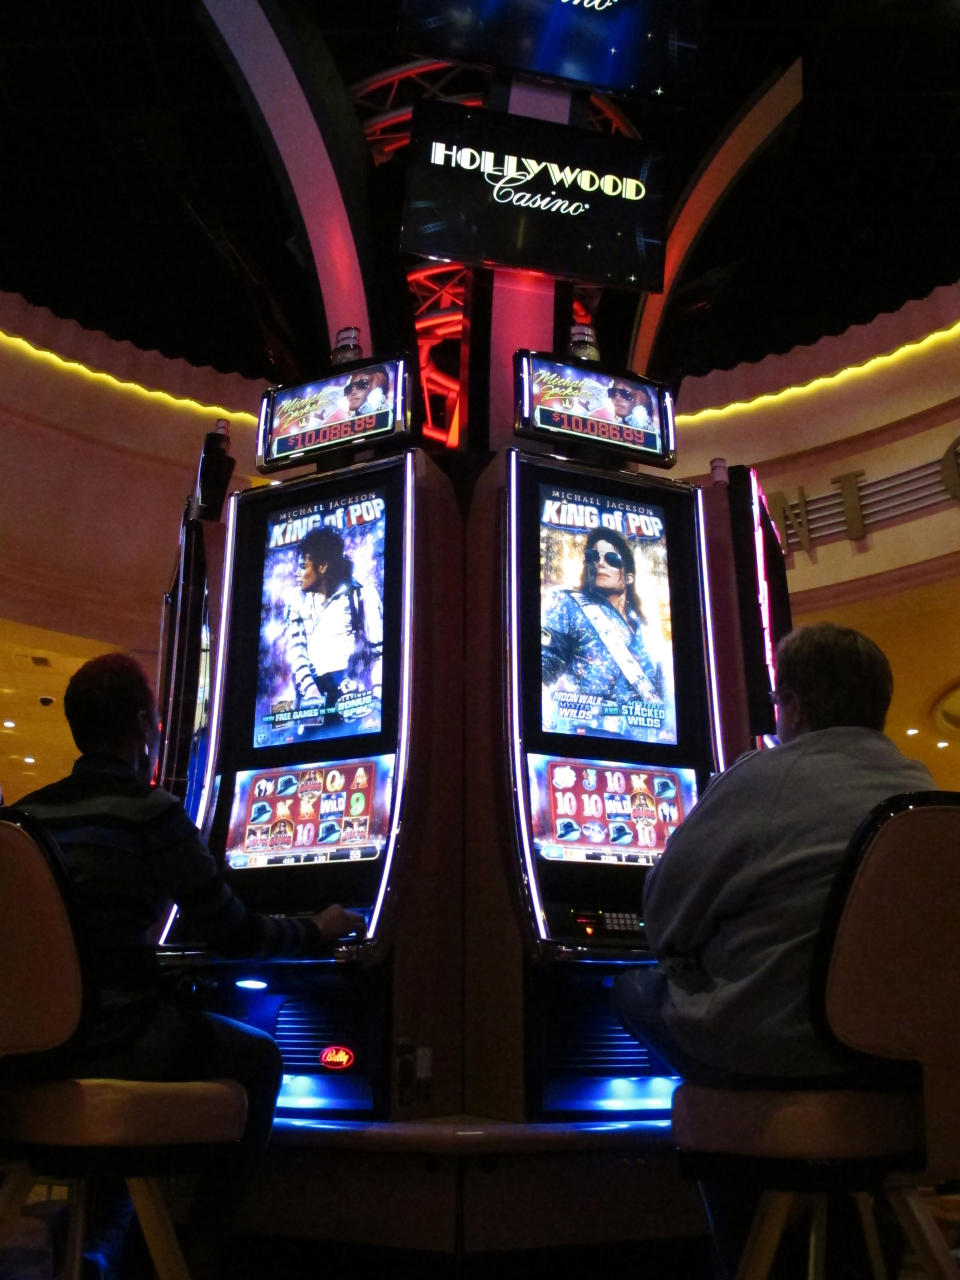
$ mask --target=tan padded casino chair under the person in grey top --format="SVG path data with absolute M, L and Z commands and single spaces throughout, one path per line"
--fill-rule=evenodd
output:
M 957 1280 L 920 1188 L 960 1176 L 960 792 L 893 796 L 854 835 L 820 928 L 810 996 L 823 1033 L 851 1053 L 851 1066 L 864 1065 L 861 1055 L 893 1060 L 895 1070 L 899 1060 L 908 1073 L 919 1064 L 916 1083 L 676 1091 L 673 1138 L 685 1172 L 762 1193 L 736 1280 L 765 1280 L 787 1219 L 806 1207 L 808 1275 L 823 1276 L 827 1196 L 838 1192 L 856 1201 L 877 1280 L 886 1271 L 876 1197 L 890 1202 L 924 1274 Z

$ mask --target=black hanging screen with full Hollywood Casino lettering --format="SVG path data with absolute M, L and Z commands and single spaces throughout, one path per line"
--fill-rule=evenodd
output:
M 663 287 L 662 156 L 585 129 L 421 102 L 403 248 L 628 289 Z

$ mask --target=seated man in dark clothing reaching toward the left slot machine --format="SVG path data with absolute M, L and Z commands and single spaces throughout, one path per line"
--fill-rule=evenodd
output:
M 160 989 L 156 928 L 172 902 L 197 934 L 230 956 L 302 956 L 364 931 L 364 919 L 328 906 L 303 919 L 248 911 L 224 881 L 179 800 L 154 787 L 160 731 L 141 667 L 111 653 L 70 678 L 64 712 L 81 758 L 69 777 L 24 796 L 18 808 L 56 838 L 87 948 L 95 1015 L 69 1056 L 52 1051 L 4 1070 L 47 1079 L 239 1080 L 247 1130 L 218 1178 L 205 1180 L 198 1222 L 236 1210 L 266 1148 L 280 1087 L 280 1051 L 269 1036 L 215 1014 L 180 1007 Z M 209 1203 L 207 1203 L 209 1201 Z

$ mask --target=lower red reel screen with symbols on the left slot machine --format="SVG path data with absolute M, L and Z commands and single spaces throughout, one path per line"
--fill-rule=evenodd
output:
M 392 755 L 237 774 L 229 870 L 376 859 L 388 837 Z

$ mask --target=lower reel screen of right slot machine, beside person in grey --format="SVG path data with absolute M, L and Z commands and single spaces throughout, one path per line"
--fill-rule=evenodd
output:
M 694 769 L 527 755 L 534 849 L 549 861 L 653 867 L 696 804 Z

